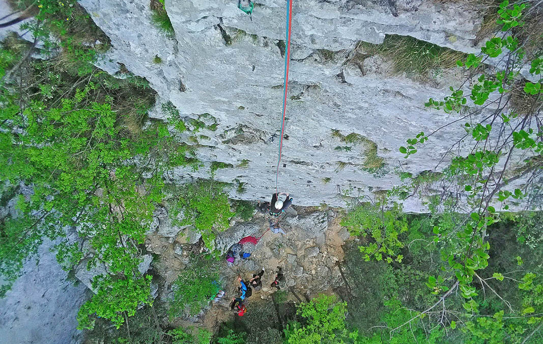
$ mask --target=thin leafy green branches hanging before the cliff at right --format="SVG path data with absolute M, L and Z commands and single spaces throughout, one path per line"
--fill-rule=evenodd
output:
M 438 294 L 441 291 L 447 291 L 447 280 L 452 279 L 458 282 L 460 295 L 465 298 L 463 304 L 464 310 L 472 314 L 478 314 L 482 311 L 479 290 L 473 285 L 477 276 L 481 282 L 482 270 L 489 265 L 490 249 L 489 242 L 485 240 L 489 226 L 500 221 L 500 216 L 493 207 L 493 202 L 502 203 L 503 209 L 508 209 L 506 203 L 509 199 L 527 201 L 527 195 L 532 193 L 533 182 L 528 182 L 522 188 L 509 189 L 507 187 L 509 178 L 519 178 L 526 173 L 539 175 L 541 164 L 538 162 L 526 162 L 526 166 L 517 168 L 516 171 L 507 174 L 510 158 L 517 155 L 534 155 L 535 161 L 539 161 L 539 156 L 543 151 L 543 141 L 541 128 L 531 128 L 526 124 L 530 118 L 537 116 L 539 104 L 541 103 L 540 80 L 536 82 L 526 82 L 520 77 L 520 66 L 516 62 L 507 64 L 494 70 L 484 70 L 482 63 L 489 58 L 501 57 L 509 61 L 522 61 L 527 59 L 524 48 L 531 46 L 529 39 L 531 36 L 537 36 L 535 33 L 527 32 L 528 28 L 523 28 L 524 23 L 521 20 L 533 20 L 529 16 L 536 16 L 534 12 L 527 11 L 525 4 L 516 2 L 509 5 L 508 1 L 500 4 L 497 10 L 497 23 L 501 24 L 502 33 L 496 34 L 493 38 L 484 42 L 480 54 L 470 54 L 463 61 L 458 61 L 457 65 L 465 68 L 470 80 L 470 92 L 464 94 L 464 90 L 450 87 L 451 95 L 436 101 L 432 98 L 425 104 L 426 107 L 433 109 L 443 109 L 446 113 L 457 112 L 463 118 L 469 121 L 464 124 L 465 136 L 458 142 L 469 140 L 469 144 L 458 144 L 456 148 L 449 151 L 452 154 L 450 165 L 445 168 L 443 181 L 447 185 L 458 185 L 463 190 L 463 196 L 466 196 L 464 202 L 454 202 L 451 200 L 440 216 L 434 218 L 435 223 L 433 232 L 435 234 L 433 242 L 440 247 L 441 258 L 449 266 L 444 266 L 446 272 L 437 276 L 431 276 L 427 285 L 431 291 Z M 514 30 L 511 30 L 515 28 Z M 541 51 L 531 51 L 531 73 L 534 79 L 541 71 Z M 517 93 L 526 93 L 526 98 L 531 102 L 523 109 L 522 116 L 515 113 L 515 98 Z M 490 95 L 494 94 L 497 100 L 489 101 Z M 535 97 L 534 97 L 535 96 Z M 529 98 L 534 97 L 534 98 Z M 468 100 L 475 105 L 475 108 L 468 108 L 465 105 Z M 482 120 L 477 118 L 478 111 L 487 107 L 490 103 L 498 102 L 500 105 L 492 115 Z M 452 124 L 452 123 L 450 123 Z M 447 127 L 447 126 L 444 126 Z M 444 128 L 442 127 L 442 128 Z M 440 129 L 438 129 L 440 130 Z M 433 135 L 433 133 L 431 134 Z M 430 135 L 428 135 L 430 136 Z M 418 143 L 424 143 L 428 140 L 423 132 L 414 139 L 408 139 L 407 147 L 400 147 L 400 152 L 406 154 L 405 157 L 416 153 Z M 467 140 L 466 140 L 467 141 Z M 508 141 L 506 146 L 493 146 L 495 142 Z M 464 149 L 465 148 L 465 149 Z M 468 153 L 460 153 L 462 151 Z M 501 159 L 501 157 L 507 157 Z M 498 167 L 499 166 L 499 167 Z M 507 177 L 504 177 L 507 174 Z M 496 181 L 497 180 L 497 181 Z M 415 187 L 418 187 L 416 185 Z M 460 191 L 462 193 L 462 191 Z M 458 193 L 457 195 L 459 195 Z M 445 196 L 445 195 L 443 195 Z M 445 196 L 450 197 L 450 196 Z M 456 196 L 459 197 L 459 196 Z M 437 209 L 438 207 L 434 208 Z M 455 212 L 465 212 L 469 216 L 453 215 Z M 449 214 L 449 215 L 447 215 Z M 458 220 L 450 221 L 453 218 Z M 521 236 L 521 240 L 526 237 Z M 494 278 L 505 278 L 501 272 L 494 272 Z M 481 282 L 482 283 L 482 282 Z M 484 285 L 483 285 L 484 287 Z M 493 312 L 491 315 L 497 314 Z M 493 330 L 501 331 L 500 320 L 495 318 L 477 319 L 472 321 L 470 326 L 466 326 L 466 333 L 471 333 L 478 340 L 486 341 L 489 338 L 483 338 L 482 334 L 490 334 Z M 497 341 L 503 336 L 494 334 Z

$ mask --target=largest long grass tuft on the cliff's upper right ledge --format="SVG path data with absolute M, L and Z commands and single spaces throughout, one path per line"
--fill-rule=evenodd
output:
M 393 61 L 394 72 L 424 75 L 435 68 L 452 68 L 464 53 L 413 37 L 386 35 L 381 44 L 361 42 L 365 53 L 382 55 Z

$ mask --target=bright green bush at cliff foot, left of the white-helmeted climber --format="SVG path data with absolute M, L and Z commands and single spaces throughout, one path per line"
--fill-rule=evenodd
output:
M 228 194 L 224 192 L 223 185 L 206 180 L 198 180 L 177 189 L 169 209 L 174 224 L 192 224 L 202 234 L 206 247 L 210 249 L 215 233 L 228 229 L 229 220 L 235 215 L 230 211 Z M 179 220 L 181 213 L 184 216 Z

